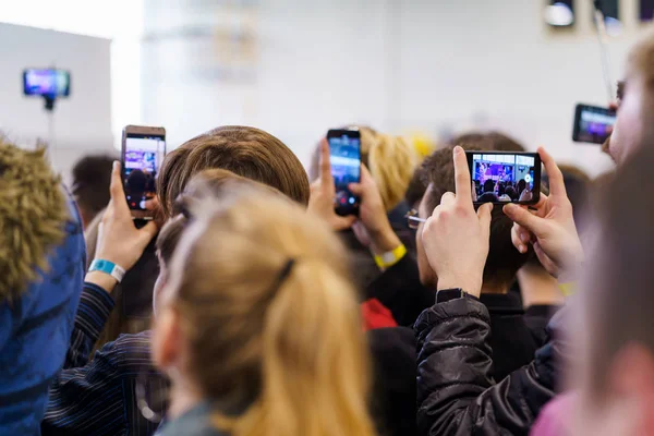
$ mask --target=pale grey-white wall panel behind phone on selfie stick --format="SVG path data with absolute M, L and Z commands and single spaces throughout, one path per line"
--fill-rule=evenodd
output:
M 57 101 L 50 156 L 68 178 L 86 153 L 116 153 L 111 135 L 110 41 L 0 23 L 0 131 L 24 146 L 49 140 L 48 113 L 39 97 L 23 96 L 25 68 L 71 71 L 71 96 Z

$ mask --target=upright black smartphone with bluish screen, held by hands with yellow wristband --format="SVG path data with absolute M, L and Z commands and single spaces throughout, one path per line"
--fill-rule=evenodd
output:
M 348 190 L 348 184 L 361 181 L 361 133 L 358 129 L 330 130 L 327 132 L 327 142 L 336 185 L 336 214 L 358 215 L 361 198 Z

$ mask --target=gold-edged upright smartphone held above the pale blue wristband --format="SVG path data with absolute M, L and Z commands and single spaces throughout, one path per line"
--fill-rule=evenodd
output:
M 156 179 L 166 156 L 166 129 L 128 125 L 122 137 L 122 180 L 132 217 L 152 219 L 145 203 L 156 195 Z

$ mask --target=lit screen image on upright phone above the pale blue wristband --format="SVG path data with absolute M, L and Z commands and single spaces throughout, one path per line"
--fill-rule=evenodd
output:
M 126 133 L 123 156 L 123 186 L 130 209 L 145 210 L 155 197 L 155 180 L 166 154 L 166 138 Z

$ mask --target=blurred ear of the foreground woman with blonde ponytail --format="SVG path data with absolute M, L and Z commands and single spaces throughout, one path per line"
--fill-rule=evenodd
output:
M 153 361 L 166 372 L 170 366 L 177 366 L 182 350 L 182 334 L 179 314 L 166 307 L 157 315 L 153 328 Z

